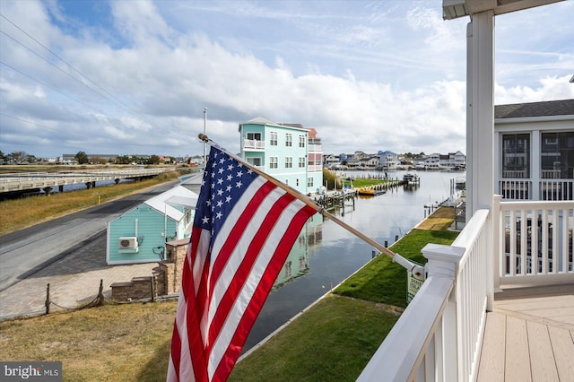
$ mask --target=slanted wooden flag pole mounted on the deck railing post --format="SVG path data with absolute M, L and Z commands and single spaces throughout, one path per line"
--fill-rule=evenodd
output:
M 326 211 L 325 208 L 323 208 L 323 206 L 317 204 L 317 202 L 315 202 L 314 200 L 312 200 L 311 198 L 309 198 L 309 196 L 301 193 L 300 191 L 296 190 L 295 188 L 289 187 L 286 184 L 284 184 L 283 182 L 277 180 L 276 178 L 272 177 L 269 174 L 266 174 L 265 172 L 261 171 L 260 169 L 255 168 L 254 166 L 252 166 L 251 164 L 249 164 L 247 161 L 243 161 L 241 158 L 239 158 L 237 155 L 228 152 L 227 150 L 225 150 L 224 148 L 222 148 L 222 146 L 220 146 L 219 144 L 213 142 L 213 140 L 211 140 L 209 137 L 207 137 L 207 135 L 204 134 L 200 134 L 198 135 L 199 140 L 201 140 L 204 143 L 208 143 L 209 145 L 215 147 L 216 149 L 225 152 L 227 155 L 229 155 L 231 158 L 233 158 L 236 161 L 239 161 L 242 165 L 244 165 L 245 167 L 247 167 L 248 169 L 251 169 L 252 171 L 256 172 L 258 175 L 260 175 L 261 177 L 269 180 L 271 183 L 273 183 L 276 187 L 279 187 L 281 189 L 283 189 L 283 191 L 295 196 L 296 198 L 298 198 L 301 202 L 309 205 L 309 207 L 313 208 L 315 211 L 317 211 L 317 213 L 322 214 L 323 216 L 325 216 L 326 218 L 328 218 L 331 221 L 334 221 L 336 224 L 340 225 L 341 227 L 343 227 L 345 230 L 348 230 L 349 232 L 351 232 L 353 235 L 357 236 L 358 238 L 366 241 L 367 243 L 369 243 L 371 246 L 375 247 L 378 249 L 379 252 L 384 253 L 385 255 L 391 257 L 393 259 L 393 262 L 398 263 L 399 265 L 403 265 L 404 268 L 406 268 L 406 270 L 410 273 L 413 273 L 413 276 L 416 277 L 419 280 L 424 280 L 424 268 L 420 265 L 416 265 L 414 263 L 412 263 L 410 260 L 404 258 L 403 256 L 400 256 L 399 254 L 394 253 L 393 251 L 391 251 L 390 249 L 388 249 L 387 247 L 379 244 L 377 241 L 375 241 L 374 239 L 371 239 L 370 237 L 368 237 L 367 235 L 363 234 L 361 231 L 356 230 L 354 228 L 352 228 L 352 226 L 350 226 L 349 224 L 347 224 L 346 222 L 340 220 L 339 218 L 337 218 L 334 214 L 329 213 L 328 211 Z

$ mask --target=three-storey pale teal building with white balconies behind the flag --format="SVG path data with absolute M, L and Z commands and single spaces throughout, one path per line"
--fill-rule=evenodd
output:
M 323 185 L 323 149 L 315 129 L 262 117 L 239 125 L 241 159 L 303 194 Z

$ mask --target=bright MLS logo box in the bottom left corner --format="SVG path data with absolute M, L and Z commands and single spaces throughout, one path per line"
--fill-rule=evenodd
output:
M 62 362 L 0 362 L 3 381 L 62 381 Z

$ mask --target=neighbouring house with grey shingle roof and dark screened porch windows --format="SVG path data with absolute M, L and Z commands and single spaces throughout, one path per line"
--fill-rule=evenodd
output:
M 495 192 L 574 200 L 574 100 L 494 107 Z

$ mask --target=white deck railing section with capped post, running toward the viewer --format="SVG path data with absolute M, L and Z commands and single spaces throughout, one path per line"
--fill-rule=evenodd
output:
M 490 224 L 489 211 L 479 210 L 453 246 L 422 249 L 427 279 L 358 380 L 475 377 L 492 292 Z

